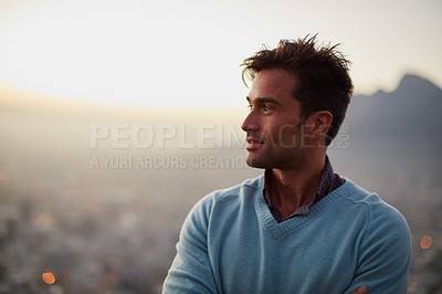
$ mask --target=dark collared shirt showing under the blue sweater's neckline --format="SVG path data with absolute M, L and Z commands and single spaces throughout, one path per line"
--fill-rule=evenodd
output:
M 281 211 L 272 204 L 272 198 L 270 195 L 270 177 L 271 176 L 272 176 L 272 169 L 266 169 L 265 176 L 264 176 L 263 195 L 264 195 L 264 199 L 267 202 L 269 209 L 272 212 L 273 217 L 276 219 L 277 222 L 282 222 L 283 218 L 282 218 Z M 344 182 L 345 182 L 345 179 L 343 179 L 341 177 L 339 177 L 338 174 L 335 174 L 333 171 L 330 160 L 328 159 L 328 156 L 326 156 L 325 167 L 323 169 L 323 174 L 320 176 L 320 182 L 316 189 L 315 195 L 312 197 L 312 199 L 307 203 L 305 203 L 304 206 L 296 209 L 296 211 L 293 212 L 287 219 L 296 217 L 296 216 L 307 214 L 314 204 L 319 202 L 320 199 L 323 199 L 324 197 L 329 195 L 333 190 L 339 188 Z

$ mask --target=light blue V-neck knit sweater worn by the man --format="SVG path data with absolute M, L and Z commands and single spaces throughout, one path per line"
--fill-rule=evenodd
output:
M 262 176 L 206 196 L 183 223 L 164 293 L 407 293 L 406 220 L 346 180 L 281 223 Z

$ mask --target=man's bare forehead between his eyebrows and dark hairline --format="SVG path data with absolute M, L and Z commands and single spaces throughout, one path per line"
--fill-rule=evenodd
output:
M 255 75 L 249 97 L 285 97 L 292 96 L 296 78 L 283 70 L 263 70 Z

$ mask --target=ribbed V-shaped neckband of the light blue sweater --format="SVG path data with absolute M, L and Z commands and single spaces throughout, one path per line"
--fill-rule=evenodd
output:
M 319 202 L 313 206 L 309 212 L 306 216 L 296 216 L 283 222 L 277 222 L 273 217 L 272 212 L 269 209 L 267 203 L 262 195 L 262 189 L 264 187 L 264 177 L 260 177 L 259 189 L 260 192 L 256 193 L 255 198 L 255 210 L 257 214 L 257 219 L 262 225 L 264 225 L 273 235 L 274 239 L 284 238 L 292 233 L 292 231 L 299 228 L 303 223 L 308 222 L 314 219 L 317 214 L 324 212 L 324 210 L 328 209 L 334 202 L 340 199 L 344 195 L 354 190 L 355 183 L 349 179 L 345 178 L 346 182 L 339 188 L 332 191 L 325 198 L 323 198 Z

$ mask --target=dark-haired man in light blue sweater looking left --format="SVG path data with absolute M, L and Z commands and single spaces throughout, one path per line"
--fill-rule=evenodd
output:
M 348 64 L 315 38 L 244 61 L 246 162 L 265 172 L 193 207 L 164 293 L 407 293 L 406 220 L 326 155 L 352 94 Z

